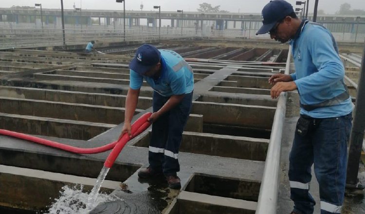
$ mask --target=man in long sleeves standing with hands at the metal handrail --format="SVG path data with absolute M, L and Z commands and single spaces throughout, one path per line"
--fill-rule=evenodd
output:
M 292 214 L 312 214 L 315 201 L 309 193 L 311 165 L 319 183 L 321 214 L 341 213 L 347 167 L 347 141 L 353 104 L 344 83 L 345 70 L 331 33 L 322 25 L 296 17 L 284 0 L 270 1 L 262 10 L 263 25 L 256 34 L 269 33 L 290 40 L 295 73 L 274 74 L 271 97 L 297 89 L 298 120 L 290 153 L 289 180 Z

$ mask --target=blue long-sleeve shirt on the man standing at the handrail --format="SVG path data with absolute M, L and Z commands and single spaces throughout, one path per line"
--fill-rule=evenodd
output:
M 318 104 L 345 92 L 345 69 L 338 55 L 337 44 L 329 30 L 317 23 L 302 23 L 302 28 L 291 41 L 295 73 L 291 74 L 300 102 L 304 105 Z M 353 109 L 351 98 L 339 104 L 318 107 L 300 114 L 313 118 L 339 117 Z

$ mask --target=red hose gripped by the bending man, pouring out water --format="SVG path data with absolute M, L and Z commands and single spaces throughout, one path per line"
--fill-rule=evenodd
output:
M 110 153 L 110 155 L 107 159 L 107 161 L 109 163 L 108 165 L 111 166 L 114 163 L 114 160 L 117 158 L 120 151 L 122 150 L 122 148 L 124 147 L 124 145 L 130 139 L 132 139 L 132 138 L 136 137 L 137 135 L 141 134 L 144 130 L 146 130 L 146 128 L 148 128 L 150 123 L 147 121 L 147 119 L 151 116 L 151 114 L 152 113 L 148 112 L 148 113 L 142 115 L 140 118 L 138 118 L 133 123 L 132 130 L 131 130 L 131 134 L 132 134 L 131 138 L 129 138 L 128 134 L 124 134 L 122 136 L 122 138 L 118 139 L 118 141 L 114 141 L 114 142 L 109 143 L 107 145 L 103 145 L 103 146 L 96 147 L 96 148 L 73 147 L 71 145 L 57 143 L 57 142 L 49 141 L 49 140 L 46 140 L 46 139 L 37 138 L 37 137 L 34 137 L 34 136 L 30 136 L 30 135 L 26 135 L 26 134 L 22 134 L 22 133 L 18 133 L 18 132 L 13 132 L 13 131 L 9 131 L 9 130 L 4 130 L 4 129 L 0 129 L 0 134 L 15 137 L 15 138 L 19 138 L 19 139 L 23 139 L 23 140 L 27 140 L 27 141 L 31 141 L 31 142 L 35 142 L 35 143 L 39 143 L 39 144 L 43 144 L 43 145 L 47 145 L 47 146 L 51 146 L 51 147 L 54 147 L 54 148 L 58 148 L 58 149 L 62 149 L 62 150 L 68 151 L 68 152 L 73 152 L 73 153 L 78 153 L 78 154 L 101 153 L 101 152 L 105 152 L 105 151 L 108 151 L 108 150 L 112 149 L 113 147 L 115 147 L 115 145 L 118 145 L 118 149 L 117 149 L 118 153 L 116 154 L 116 151 L 114 152 L 115 149 L 113 149 L 113 151 Z M 110 157 L 110 156 L 112 156 L 112 157 Z M 109 159 L 111 159 L 113 161 L 110 162 Z M 105 164 L 107 164 L 107 161 L 106 161 Z

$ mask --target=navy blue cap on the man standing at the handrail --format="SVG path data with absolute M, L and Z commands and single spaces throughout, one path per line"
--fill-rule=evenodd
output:
M 268 33 L 281 19 L 294 12 L 292 5 L 285 0 L 272 0 L 262 9 L 262 27 L 256 35 Z

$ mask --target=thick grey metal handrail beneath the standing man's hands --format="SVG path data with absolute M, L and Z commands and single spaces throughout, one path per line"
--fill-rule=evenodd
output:
M 289 74 L 291 48 L 285 67 L 285 74 Z M 276 203 L 278 195 L 280 149 L 283 133 L 283 125 L 286 110 L 287 92 L 282 92 L 277 101 L 274 115 L 273 128 L 269 141 L 269 148 L 265 160 L 264 173 L 261 180 L 260 193 L 258 195 L 256 214 L 276 214 Z

